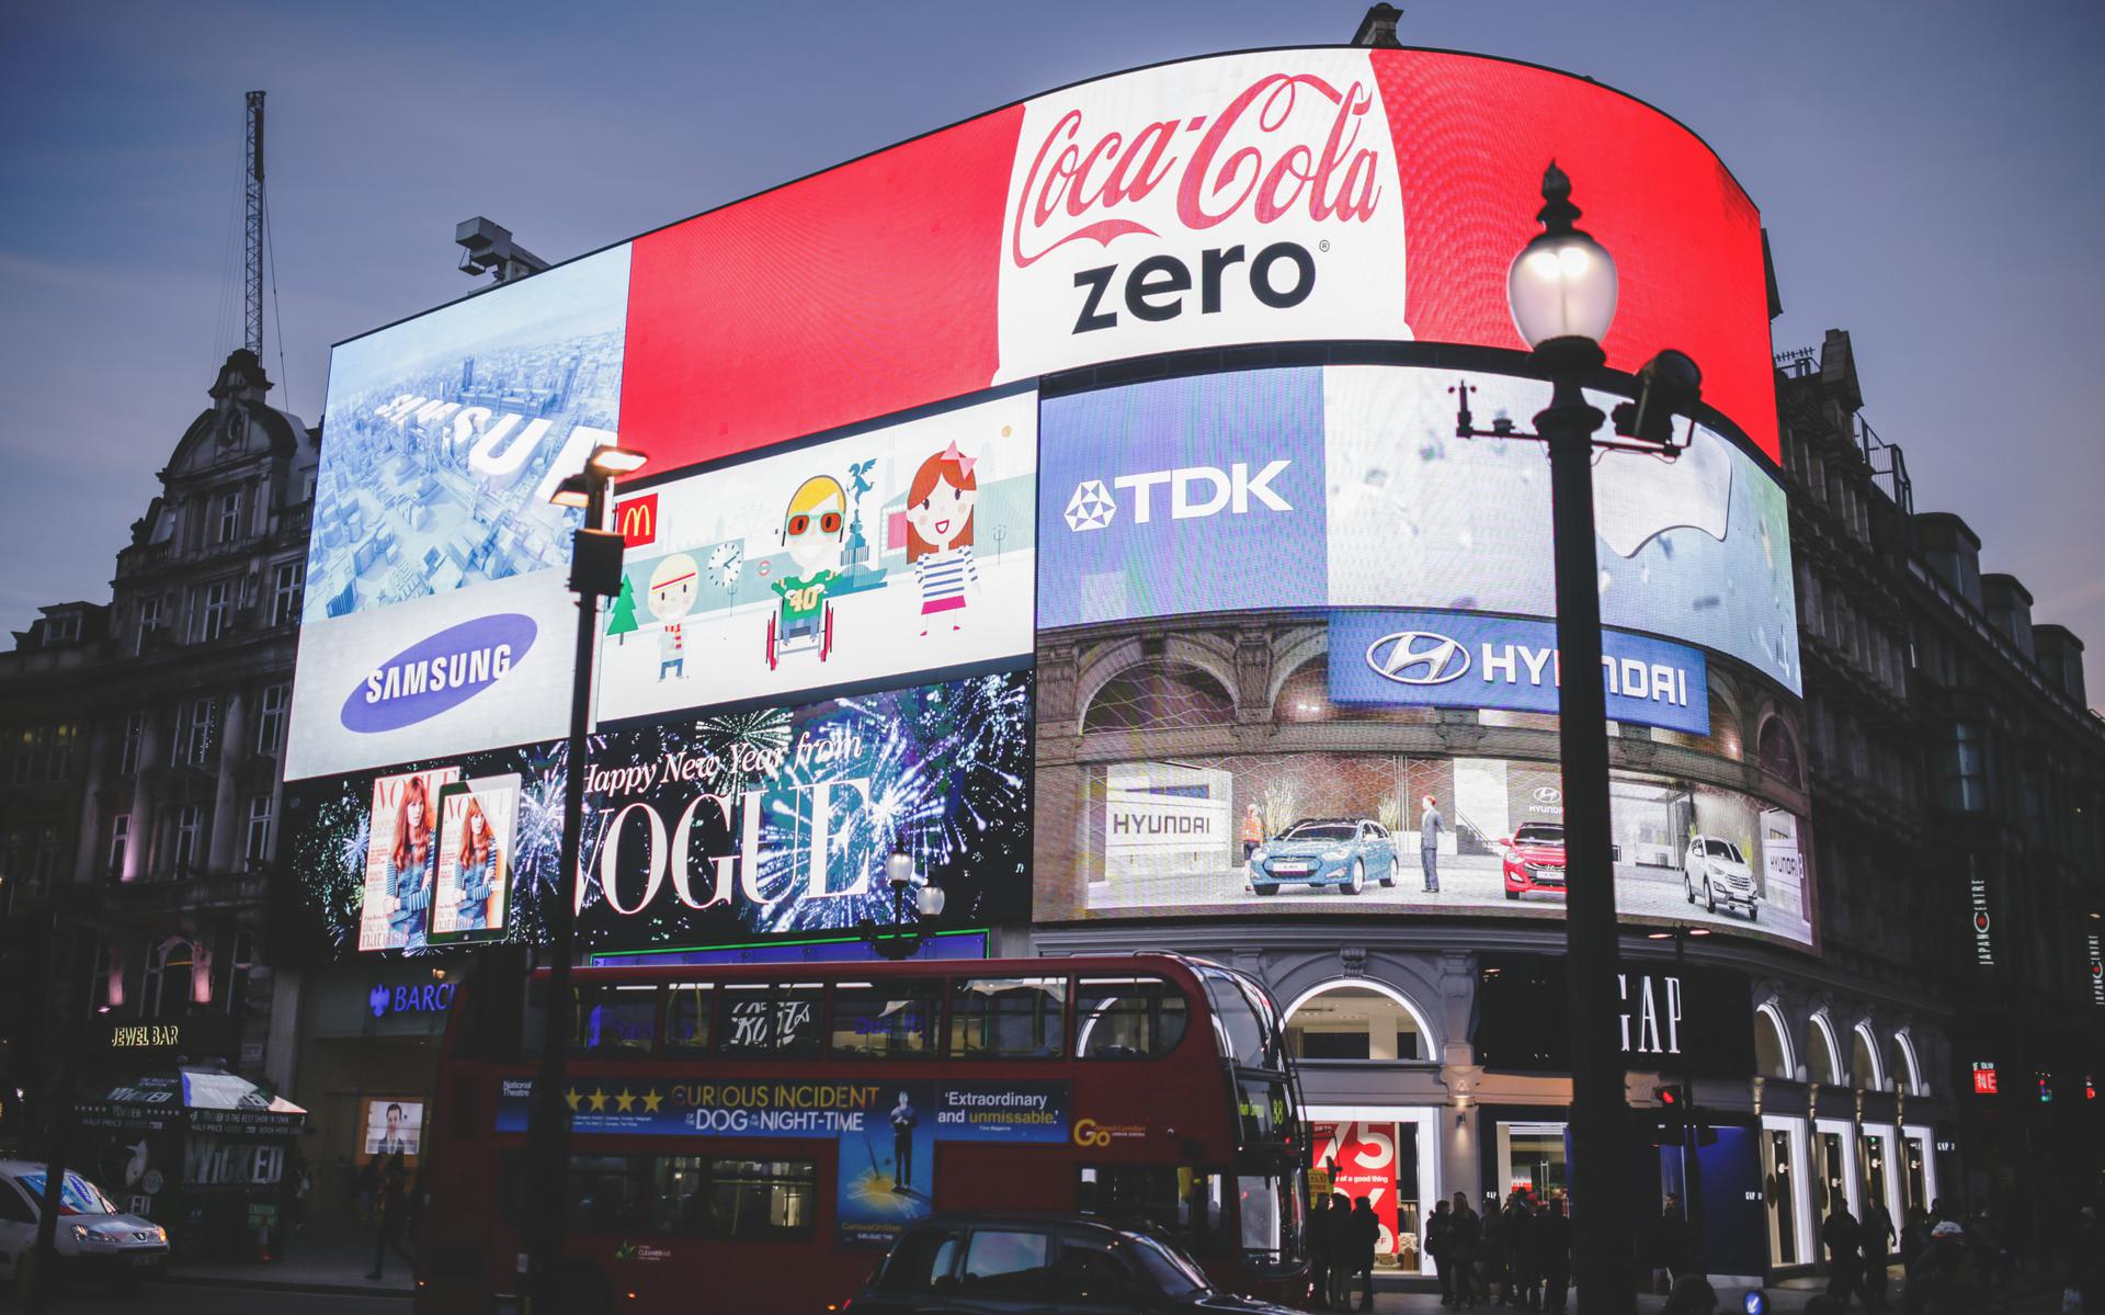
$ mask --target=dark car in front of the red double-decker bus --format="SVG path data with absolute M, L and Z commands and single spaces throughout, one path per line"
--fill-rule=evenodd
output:
M 1090 1311 L 1292 1315 L 1229 1296 L 1175 1241 L 1057 1214 L 949 1214 L 907 1224 L 848 1315 Z

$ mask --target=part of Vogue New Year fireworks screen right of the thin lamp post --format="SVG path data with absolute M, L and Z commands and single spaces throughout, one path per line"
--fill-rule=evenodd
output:
M 890 923 L 895 847 L 943 887 L 937 927 L 1025 917 L 1029 759 L 1027 672 L 606 733 L 585 778 L 579 940 L 686 948 Z

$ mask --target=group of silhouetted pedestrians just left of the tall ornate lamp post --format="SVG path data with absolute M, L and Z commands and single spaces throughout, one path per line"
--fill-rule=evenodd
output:
M 1499 1302 L 1524 1311 L 1562 1311 L 1572 1277 L 1572 1224 L 1564 1199 L 1537 1201 L 1535 1193 L 1507 1193 L 1505 1203 L 1486 1195 L 1484 1210 L 1469 1193 L 1440 1201 L 1425 1220 L 1425 1254 L 1440 1275 L 1442 1307 Z

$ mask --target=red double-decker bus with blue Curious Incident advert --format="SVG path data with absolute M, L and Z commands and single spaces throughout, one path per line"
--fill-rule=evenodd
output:
M 1305 1275 L 1280 1012 L 1177 955 L 587 967 L 566 1311 L 838 1309 L 937 1210 L 1147 1220 L 1223 1288 Z M 537 1020 L 469 990 L 425 1134 L 419 1311 L 516 1309 Z

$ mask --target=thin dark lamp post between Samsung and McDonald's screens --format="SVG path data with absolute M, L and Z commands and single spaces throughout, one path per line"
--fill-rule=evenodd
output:
M 554 902 L 547 906 L 549 982 L 541 1016 L 541 1071 L 533 1083 L 526 1115 L 526 1146 L 533 1176 L 528 1239 L 528 1309 L 562 1311 L 560 1256 L 564 1193 L 570 1170 L 570 1106 L 562 1096 L 570 1049 L 570 957 L 577 940 L 577 864 L 585 828 L 585 735 L 592 731 L 592 655 L 600 639 L 600 598 L 621 592 L 621 535 L 606 525 L 606 485 L 619 474 L 642 470 L 644 453 L 602 447 L 585 459 L 585 470 L 556 485 L 549 502 L 583 508 L 585 525 L 570 539 L 570 588 L 577 590 L 577 655 L 570 668 L 570 740 L 562 784 L 562 858 L 556 868 Z

